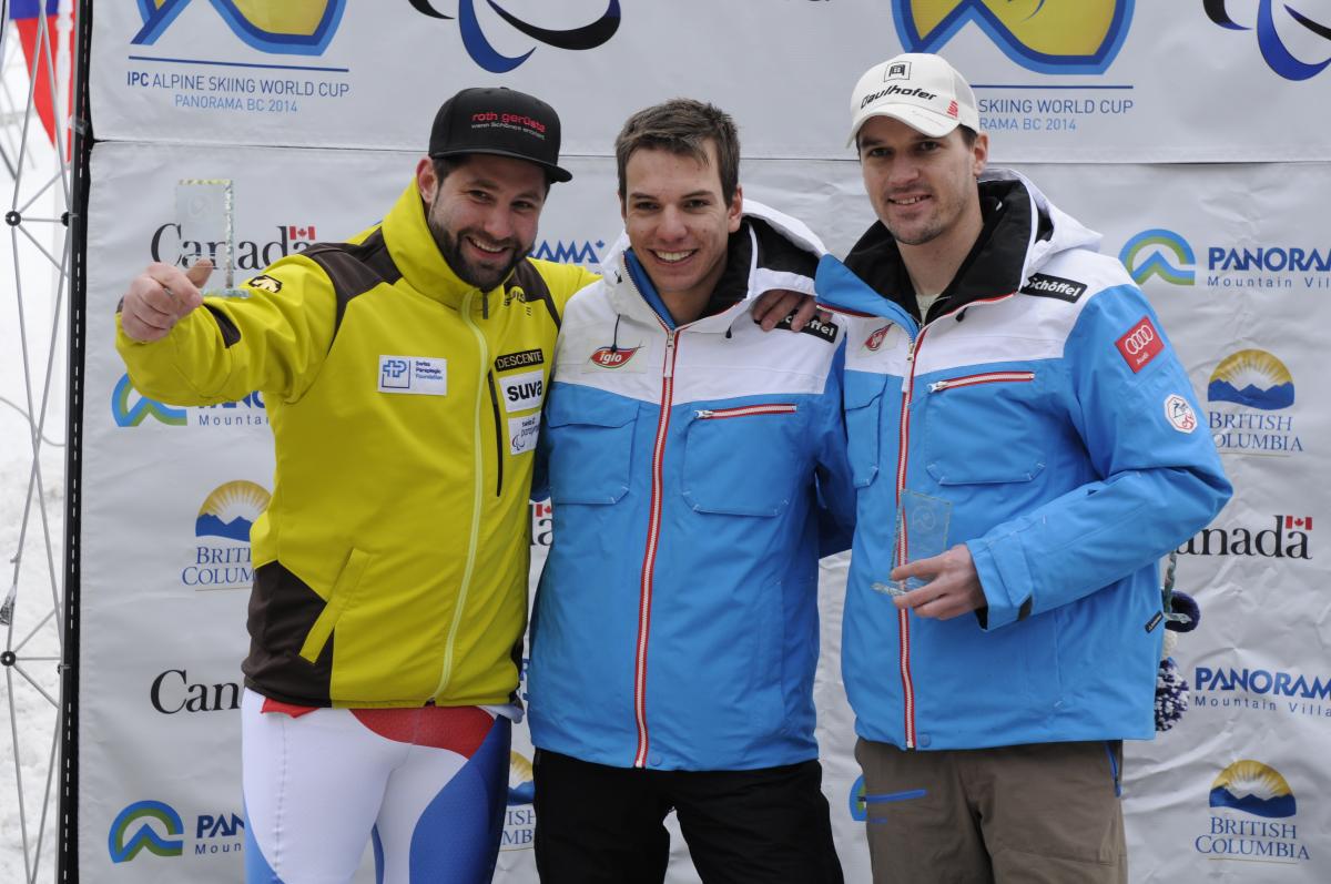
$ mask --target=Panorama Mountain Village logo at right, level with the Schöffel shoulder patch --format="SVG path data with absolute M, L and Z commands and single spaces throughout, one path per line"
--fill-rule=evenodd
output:
M 1331 289 L 1331 248 L 1318 245 L 1219 242 L 1197 250 L 1174 230 L 1150 228 L 1130 237 L 1118 260 L 1142 286 L 1153 278 L 1195 285 L 1205 270 L 1211 289 Z

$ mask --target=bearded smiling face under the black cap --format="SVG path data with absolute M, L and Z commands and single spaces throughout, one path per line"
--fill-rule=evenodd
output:
M 439 180 L 427 157 L 417 184 L 439 253 L 463 282 L 488 292 L 531 252 L 548 189 L 540 166 L 474 153 Z

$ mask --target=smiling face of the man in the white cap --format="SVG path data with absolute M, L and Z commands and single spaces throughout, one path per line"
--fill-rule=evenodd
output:
M 969 248 L 984 224 L 976 176 L 989 156 L 988 136 L 968 145 L 960 126 L 934 138 L 900 120 L 870 117 L 856 141 L 869 202 L 900 245 L 965 240 Z

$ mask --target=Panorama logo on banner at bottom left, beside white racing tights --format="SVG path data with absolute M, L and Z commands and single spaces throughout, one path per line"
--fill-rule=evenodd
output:
M 186 849 L 186 840 L 189 848 Z M 245 820 L 234 811 L 198 813 L 190 832 L 170 804 L 134 801 L 110 823 L 106 849 L 112 863 L 129 863 L 146 851 L 164 859 L 182 855 L 238 853 L 245 841 Z

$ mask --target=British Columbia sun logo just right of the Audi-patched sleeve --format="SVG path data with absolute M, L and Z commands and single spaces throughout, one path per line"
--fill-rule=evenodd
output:
M 1246 349 L 1219 361 L 1206 385 L 1207 427 L 1223 454 L 1302 454 L 1294 377 L 1266 350 Z

